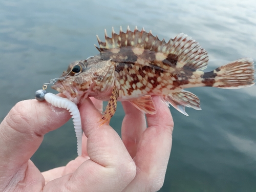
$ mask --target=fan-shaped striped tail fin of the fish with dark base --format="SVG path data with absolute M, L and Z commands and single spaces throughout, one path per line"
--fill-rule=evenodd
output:
M 241 58 L 221 66 L 214 71 L 205 73 L 204 83 L 222 89 L 240 89 L 255 84 L 254 66 L 251 58 Z

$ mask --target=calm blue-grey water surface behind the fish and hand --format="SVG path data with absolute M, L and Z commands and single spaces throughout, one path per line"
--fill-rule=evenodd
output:
M 256 60 L 256 2 L 248 1 L 0 1 L 0 119 L 74 60 L 98 54 L 96 34 L 129 25 L 160 39 L 183 32 L 208 51 L 209 67 Z M 175 129 L 160 191 L 256 191 L 256 87 L 193 88 L 202 111 L 170 108 Z M 54 92 L 55 93 L 55 92 Z M 121 104 L 111 125 L 120 133 Z M 76 157 L 72 123 L 47 134 L 32 157 L 41 171 Z

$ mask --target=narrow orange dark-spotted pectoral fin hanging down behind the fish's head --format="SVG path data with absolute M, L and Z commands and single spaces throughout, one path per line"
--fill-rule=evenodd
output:
M 110 122 L 111 117 L 113 117 L 113 115 L 116 112 L 116 105 L 117 105 L 117 98 L 118 98 L 118 90 L 116 89 L 116 86 L 114 85 L 113 87 L 113 91 L 112 94 L 110 96 L 110 100 L 108 102 L 108 105 L 106 105 L 106 109 L 103 113 L 103 116 L 100 120 L 101 124 L 104 124 L 105 122 Z

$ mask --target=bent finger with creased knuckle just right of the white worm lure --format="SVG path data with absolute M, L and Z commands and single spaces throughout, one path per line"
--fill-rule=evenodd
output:
M 102 114 L 89 98 L 79 106 L 82 129 L 87 139 L 90 159 L 73 174 L 50 181 L 45 190 L 59 185 L 69 191 L 122 191 L 135 176 L 135 164 L 121 138 L 107 124 L 99 126 Z M 66 189 L 65 188 L 65 189 Z

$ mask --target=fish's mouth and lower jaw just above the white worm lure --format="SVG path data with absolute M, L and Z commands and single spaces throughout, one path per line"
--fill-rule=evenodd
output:
M 59 93 L 62 93 L 65 95 L 69 100 L 73 101 L 74 103 L 79 102 L 78 98 L 78 91 L 73 86 L 73 84 L 66 84 L 62 82 L 61 80 L 58 80 L 54 83 L 54 85 L 51 87 L 52 89 L 56 90 Z

